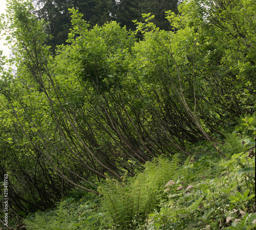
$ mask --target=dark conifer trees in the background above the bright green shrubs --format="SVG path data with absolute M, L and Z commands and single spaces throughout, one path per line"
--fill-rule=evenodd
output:
M 55 53 L 56 45 L 67 44 L 69 29 L 71 28 L 69 8 L 79 10 L 83 19 L 90 23 L 90 28 L 96 24 L 115 20 L 121 27 L 128 30 L 136 30 L 132 22 L 135 19 L 142 19 L 142 13 L 152 12 L 156 15 L 154 22 L 160 29 L 169 30 L 169 23 L 165 20 L 165 11 L 178 12 L 178 0 L 34 0 L 37 6 L 35 14 L 39 19 L 47 22 L 46 33 L 49 35 L 46 43 L 50 45 L 51 52 Z

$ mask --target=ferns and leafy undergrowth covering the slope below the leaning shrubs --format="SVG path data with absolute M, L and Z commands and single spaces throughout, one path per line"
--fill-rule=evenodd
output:
M 108 176 L 99 184 L 100 196 L 74 191 L 55 210 L 37 212 L 25 224 L 28 229 L 255 229 L 255 142 L 249 131 L 255 125 L 252 119 L 243 122 L 226 134 L 224 145 L 216 143 L 227 158 L 197 152 L 185 160 L 181 154 L 161 156 L 134 177 Z

